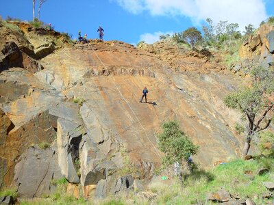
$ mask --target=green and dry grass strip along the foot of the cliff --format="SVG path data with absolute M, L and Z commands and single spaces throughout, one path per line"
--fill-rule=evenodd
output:
M 258 174 L 262 168 L 268 168 L 269 172 Z M 181 187 L 177 178 L 161 180 L 155 178 L 147 187 L 147 191 L 155 193 L 152 200 L 140 196 L 139 193 L 128 191 L 119 195 L 110 196 L 105 200 L 83 198 L 76 200 L 74 197 L 61 193 L 60 197 L 36 199 L 35 202 L 21 202 L 21 204 L 197 204 L 209 202 L 208 194 L 221 189 L 232 195 L 238 195 L 240 199 L 251 198 L 256 204 L 269 204 L 274 198 L 263 198 L 269 193 L 263 182 L 273 181 L 274 159 L 271 157 L 255 157 L 249 161 L 237 159 L 223 163 L 214 169 L 205 172 L 197 170 L 184 180 Z

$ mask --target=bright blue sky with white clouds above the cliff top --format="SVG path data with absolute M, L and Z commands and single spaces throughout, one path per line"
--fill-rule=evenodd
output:
M 0 15 L 32 20 L 32 0 L 0 0 Z M 47 0 L 40 18 L 73 38 L 79 30 L 83 36 L 98 38 L 102 25 L 104 40 L 136 44 L 140 40 L 152 43 L 162 33 L 192 26 L 201 30 L 208 17 L 214 23 L 239 23 L 243 29 L 249 23 L 258 27 L 268 16 L 274 16 L 274 0 Z

